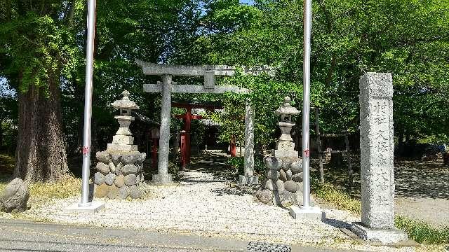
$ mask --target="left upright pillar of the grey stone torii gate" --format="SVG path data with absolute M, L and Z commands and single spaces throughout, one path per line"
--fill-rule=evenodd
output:
M 153 175 L 154 183 L 170 183 L 171 174 L 168 174 L 168 152 L 170 151 L 170 112 L 171 112 L 171 75 L 162 76 L 162 108 L 161 130 L 159 137 L 159 162 L 157 174 Z

